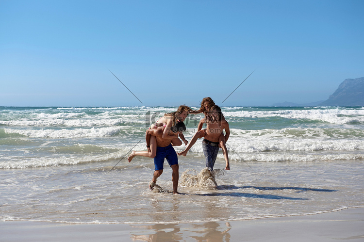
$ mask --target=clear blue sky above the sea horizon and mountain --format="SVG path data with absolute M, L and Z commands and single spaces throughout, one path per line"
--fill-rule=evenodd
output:
M 0 0 L 0 106 L 325 100 L 364 77 L 363 13 L 363 0 Z

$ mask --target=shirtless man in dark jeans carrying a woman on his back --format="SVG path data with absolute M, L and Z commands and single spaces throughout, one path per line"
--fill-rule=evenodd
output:
M 193 136 L 192 140 L 188 146 L 178 155 L 186 156 L 187 151 L 194 145 L 199 138 L 204 138 L 202 141 L 203 154 L 206 157 L 206 167 L 210 170 L 214 170 L 214 165 L 219 150 L 219 145 L 224 150 L 224 157 L 226 170 L 230 170 L 228 150 L 226 148 L 225 142 L 229 139 L 230 128 L 229 123 L 223 118 L 221 109 L 218 106 L 213 106 L 210 109 L 208 115 L 201 120 L 201 123 L 206 123 L 206 129 L 197 131 Z M 222 130 L 225 129 L 225 141 L 222 141 L 220 135 L 223 133 Z

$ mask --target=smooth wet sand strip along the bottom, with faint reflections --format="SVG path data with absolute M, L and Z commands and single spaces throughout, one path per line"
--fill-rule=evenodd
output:
M 305 216 L 181 224 L 0 223 L 1 241 L 364 241 L 364 208 Z

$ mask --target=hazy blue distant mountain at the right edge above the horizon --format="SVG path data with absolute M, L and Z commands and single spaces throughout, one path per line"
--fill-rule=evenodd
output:
M 329 99 L 320 103 L 319 106 L 364 106 L 364 77 L 346 79 Z

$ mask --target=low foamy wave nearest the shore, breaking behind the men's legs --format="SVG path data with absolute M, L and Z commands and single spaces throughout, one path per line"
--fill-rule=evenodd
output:
M 184 145 L 175 146 L 176 152 L 180 152 L 184 149 Z M 90 150 L 94 152 L 89 152 Z M 260 149 L 260 152 L 258 152 Z M 116 151 L 117 150 L 117 151 Z M 143 142 L 134 144 L 119 145 L 119 147 L 102 147 L 98 145 L 76 145 L 66 147 L 43 147 L 37 148 L 37 152 L 56 152 L 57 157 L 51 156 L 36 156 L 34 152 L 31 152 L 26 158 L 24 157 L 6 157 L 0 161 L 0 169 L 16 169 L 16 168 L 28 168 L 28 167 L 49 167 L 49 166 L 61 166 L 61 165 L 77 165 L 82 163 L 92 162 L 108 162 L 118 159 L 127 162 L 127 157 L 131 150 L 142 151 L 146 150 Z M 267 152 L 267 151 L 270 152 Z M 308 152 L 309 149 L 299 150 L 287 150 L 286 148 L 262 148 L 246 146 L 239 148 L 237 145 L 228 145 L 229 159 L 232 162 L 283 162 L 283 161 L 296 161 L 296 162 L 308 162 L 308 161 L 354 161 L 364 160 L 364 153 L 357 151 L 321 151 L 321 152 Z M 110 153 L 108 153 L 110 152 Z M 106 153 L 106 154 L 99 154 Z M 19 153 L 21 154 L 21 152 Z M 182 158 L 182 157 L 181 157 Z M 187 153 L 186 158 L 204 160 L 202 145 L 194 145 Z M 224 160 L 223 154 L 219 151 L 217 158 L 221 161 Z M 151 159 L 152 162 L 152 159 Z M 122 163 L 121 163 L 122 164 Z M 232 164 L 231 164 L 232 165 Z

